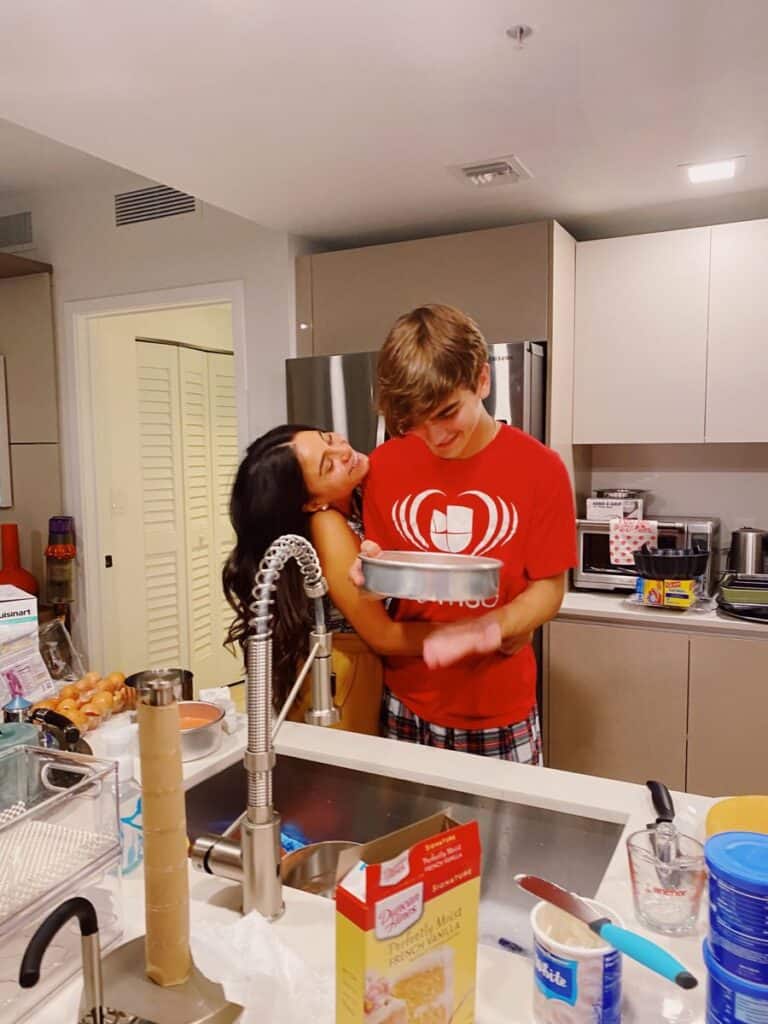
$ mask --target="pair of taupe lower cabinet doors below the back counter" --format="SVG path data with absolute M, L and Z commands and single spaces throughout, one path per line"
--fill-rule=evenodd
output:
M 549 767 L 768 793 L 768 638 L 556 620 L 546 664 Z

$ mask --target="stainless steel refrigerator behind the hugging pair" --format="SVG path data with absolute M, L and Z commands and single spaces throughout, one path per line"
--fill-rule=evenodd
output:
M 358 452 L 386 437 L 376 412 L 378 352 L 308 355 L 286 360 L 289 423 L 335 430 Z M 547 390 L 546 345 L 521 341 L 490 345 L 490 394 L 485 406 L 496 420 L 544 440 Z

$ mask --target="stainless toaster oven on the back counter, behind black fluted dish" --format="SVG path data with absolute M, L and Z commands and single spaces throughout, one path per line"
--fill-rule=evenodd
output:
M 703 583 L 707 592 L 714 593 L 718 580 L 720 520 L 714 516 L 659 516 L 655 521 L 658 522 L 659 548 L 692 548 L 694 551 L 710 552 Z M 634 565 L 614 565 L 610 560 L 609 522 L 577 519 L 577 538 L 574 589 L 635 589 L 637 572 Z

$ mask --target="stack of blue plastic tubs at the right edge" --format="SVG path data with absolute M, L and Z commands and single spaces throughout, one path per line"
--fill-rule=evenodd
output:
M 721 833 L 706 856 L 707 1024 L 768 1024 L 768 836 Z

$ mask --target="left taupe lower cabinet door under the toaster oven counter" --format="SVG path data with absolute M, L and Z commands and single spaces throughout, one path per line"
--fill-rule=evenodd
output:
M 560 621 L 549 631 L 549 767 L 684 790 L 687 636 Z

